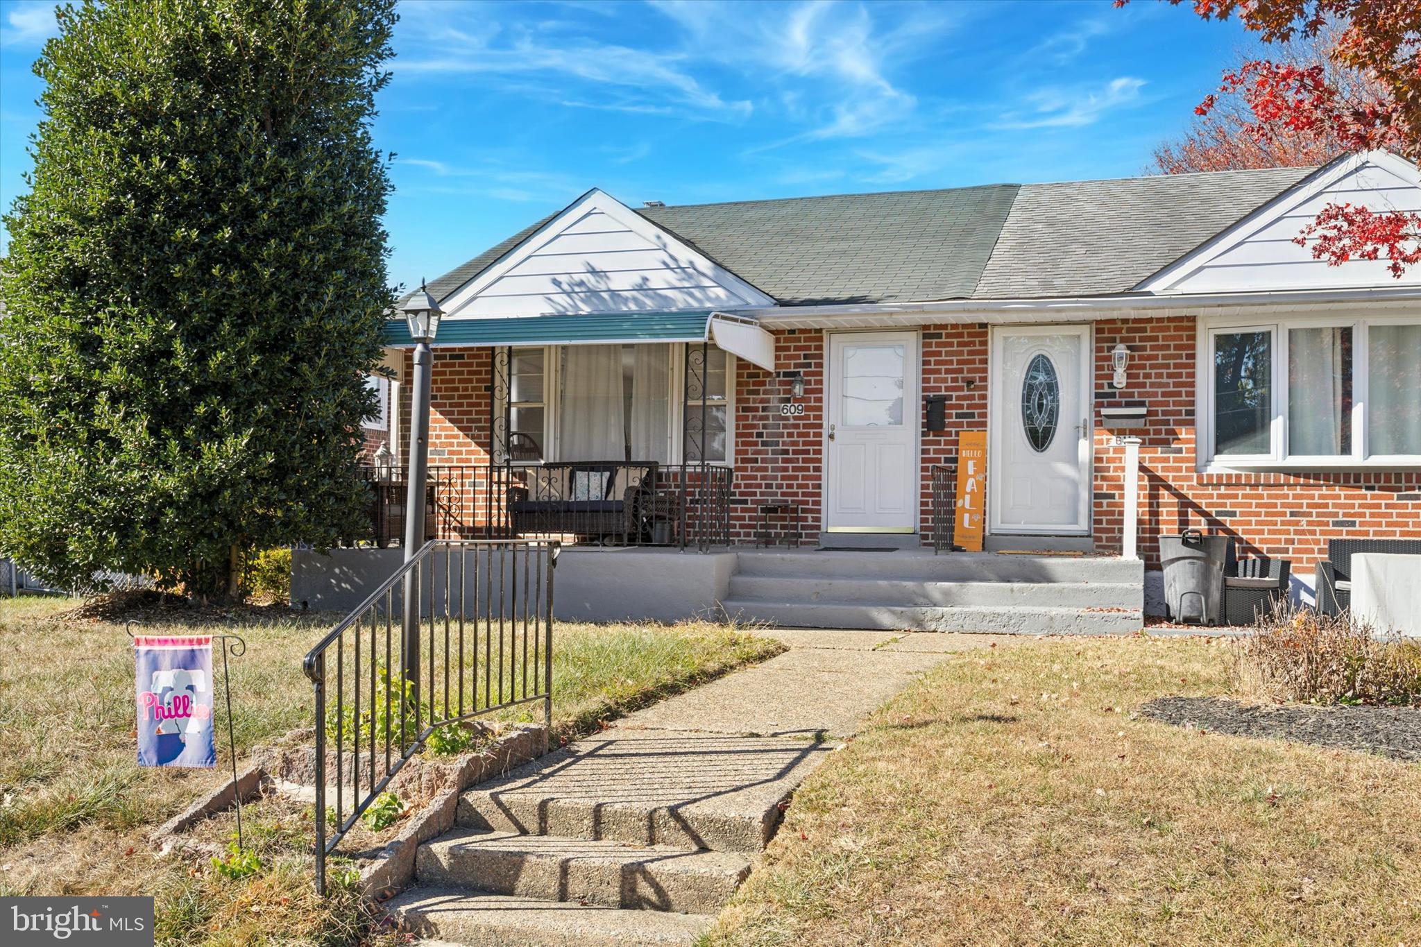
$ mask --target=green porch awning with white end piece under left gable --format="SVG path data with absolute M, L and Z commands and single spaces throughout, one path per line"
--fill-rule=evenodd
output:
M 503 345 L 627 345 L 637 342 L 705 342 L 774 371 L 774 336 L 743 315 L 725 312 L 612 312 L 526 315 L 517 318 L 445 319 L 435 348 Z M 414 345 L 401 319 L 385 324 L 387 346 Z

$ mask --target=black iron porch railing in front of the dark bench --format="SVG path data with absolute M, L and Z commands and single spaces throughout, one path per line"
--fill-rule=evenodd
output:
M 735 473 L 710 464 L 577 461 L 489 469 L 493 535 L 705 549 L 730 542 Z

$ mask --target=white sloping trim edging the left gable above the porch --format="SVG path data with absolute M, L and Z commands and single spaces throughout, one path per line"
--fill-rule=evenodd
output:
M 567 207 L 563 209 L 556 217 L 549 220 L 546 224 L 539 227 L 534 233 L 523 240 L 513 250 L 506 253 L 502 260 L 497 260 L 490 267 L 485 268 L 483 273 L 473 277 L 462 287 L 450 292 L 441 301 L 441 307 L 445 311 L 446 319 L 458 319 L 459 310 L 466 307 L 473 301 L 483 290 L 490 284 L 496 283 L 502 277 L 507 275 L 513 267 L 523 263 L 527 257 L 541 250 L 553 239 L 558 237 L 568 226 L 580 220 L 588 213 L 601 212 L 631 230 L 638 237 L 657 244 L 672 253 L 674 256 L 688 261 L 691 266 L 703 271 L 713 283 L 719 284 L 726 292 L 739 297 L 745 305 L 774 305 L 774 300 L 764 295 L 753 285 L 735 275 L 715 260 L 710 260 L 699 250 L 692 248 L 689 244 L 684 243 L 679 237 L 675 237 L 666 230 L 662 230 L 654 224 L 647 217 L 642 217 L 635 210 L 621 203 L 607 192 L 601 189 L 591 189 Z M 688 305 L 685 310 L 702 310 L 703 305 Z M 621 311 L 621 310 L 615 310 Z M 598 312 L 597 310 L 588 310 L 587 314 Z M 628 315 L 635 315 L 635 312 L 628 312 Z

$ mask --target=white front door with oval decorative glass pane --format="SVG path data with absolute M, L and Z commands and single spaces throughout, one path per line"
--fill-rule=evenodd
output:
M 1003 327 L 988 368 L 988 528 L 1090 532 L 1090 327 Z

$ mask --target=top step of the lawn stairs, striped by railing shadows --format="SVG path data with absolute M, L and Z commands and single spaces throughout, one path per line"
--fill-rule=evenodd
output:
M 831 745 L 628 733 L 578 740 L 459 798 L 458 825 L 716 852 L 759 852 Z

